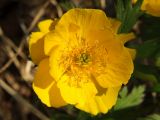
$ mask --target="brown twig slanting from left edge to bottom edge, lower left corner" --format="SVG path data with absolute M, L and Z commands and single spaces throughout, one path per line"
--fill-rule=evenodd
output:
M 24 98 L 22 98 L 14 89 L 12 89 L 9 85 L 7 85 L 2 79 L 0 79 L 0 86 L 10 94 L 17 102 L 21 103 L 23 106 L 28 108 L 33 114 L 35 114 L 41 120 L 50 120 L 43 113 L 33 107 L 30 103 L 28 103 Z

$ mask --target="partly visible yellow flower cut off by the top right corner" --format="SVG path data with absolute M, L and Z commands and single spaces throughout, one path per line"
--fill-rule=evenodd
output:
M 134 0 L 134 2 L 136 1 Z M 150 15 L 160 17 L 160 0 L 143 0 L 141 10 Z

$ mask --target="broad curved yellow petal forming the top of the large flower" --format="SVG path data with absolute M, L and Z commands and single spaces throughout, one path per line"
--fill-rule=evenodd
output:
M 57 44 L 79 44 L 91 30 L 110 29 L 111 23 L 102 10 L 71 9 L 58 21 L 54 32 L 45 39 L 45 54 L 49 55 Z M 72 32 L 74 34 L 72 34 Z M 67 46 L 68 47 L 68 46 Z

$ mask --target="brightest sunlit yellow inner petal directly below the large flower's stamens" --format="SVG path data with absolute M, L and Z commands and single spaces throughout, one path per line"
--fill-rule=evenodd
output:
M 61 80 L 57 83 L 61 91 L 61 95 L 67 103 L 84 104 L 88 99 L 96 95 L 97 89 L 91 81 L 80 84 L 80 81 L 83 82 L 85 80 L 82 79 L 78 81 L 73 78 L 74 76 L 69 77 L 67 75 L 63 75 Z

